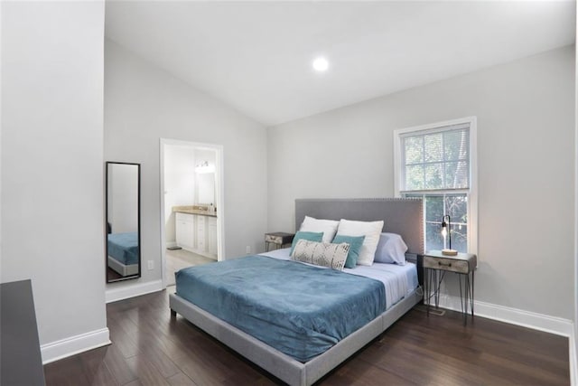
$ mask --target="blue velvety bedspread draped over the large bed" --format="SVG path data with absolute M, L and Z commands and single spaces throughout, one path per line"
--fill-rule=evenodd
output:
M 183 268 L 175 277 L 178 296 L 300 362 L 386 310 L 378 280 L 265 256 Z

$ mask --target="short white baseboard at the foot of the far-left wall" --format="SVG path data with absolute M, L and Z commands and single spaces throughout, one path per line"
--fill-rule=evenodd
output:
M 42 364 L 58 361 L 70 355 L 83 353 L 107 344 L 110 344 L 108 328 L 70 336 L 70 338 L 61 339 L 50 344 L 42 344 L 40 346 Z

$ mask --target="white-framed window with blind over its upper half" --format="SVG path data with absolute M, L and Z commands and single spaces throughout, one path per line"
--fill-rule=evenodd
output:
M 452 249 L 475 252 L 476 118 L 394 132 L 396 196 L 424 199 L 425 249 L 443 245 L 441 223 L 452 219 Z

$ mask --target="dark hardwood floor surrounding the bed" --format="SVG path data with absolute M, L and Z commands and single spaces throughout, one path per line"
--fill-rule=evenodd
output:
M 273 385 L 272 375 L 187 322 L 167 291 L 107 305 L 112 344 L 44 366 L 51 385 Z M 568 339 L 415 307 L 322 385 L 568 385 Z

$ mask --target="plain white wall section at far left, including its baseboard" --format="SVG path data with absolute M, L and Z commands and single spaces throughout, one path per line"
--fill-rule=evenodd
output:
M 103 34 L 102 1 L 2 3 L 1 280 L 32 278 L 44 361 L 108 341 Z

